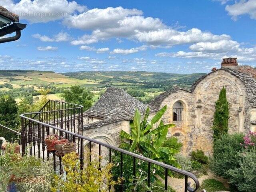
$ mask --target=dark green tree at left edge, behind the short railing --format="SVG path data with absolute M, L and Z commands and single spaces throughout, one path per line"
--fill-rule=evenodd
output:
M 0 124 L 16 129 L 19 122 L 18 104 L 10 95 L 0 97 Z

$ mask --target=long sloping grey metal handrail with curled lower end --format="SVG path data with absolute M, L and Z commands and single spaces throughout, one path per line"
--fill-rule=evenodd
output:
M 38 120 L 35 120 L 35 119 L 32 119 L 32 118 L 26 117 L 26 115 L 28 115 L 28 114 L 31 114 L 31 113 L 21 114 L 20 117 L 21 117 L 21 118 L 24 118 L 24 119 L 26 119 L 26 120 L 35 122 L 35 123 L 37 123 L 37 124 L 41 124 L 41 125 L 43 125 L 43 126 L 46 126 L 46 127 L 49 127 L 49 128 L 53 128 L 54 130 L 58 130 L 58 131 L 60 131 L 60 132 L 66 133 L 66 134 L 70 134 L 70 135 L 72 135 L 74 138 L 75 138 L 75 137 L 78 137 L 78 138 L 81 138 L 81 139 L 85 139 L 85 140 L 88 140 L 88 141 L 90 141 L 90 142 L 99 144 L 100 146 L 105 146 L 105 147 L 107 147 L 107 148 L 116 150 L 116 151 L 121 152 L 121 153 L 123 153 L 123 154 L 130 155 L 130 156 L 132 156 L 132 157 L 134 157 L 134 158 L 138 158 L 138 159 L 140 159 L 140 160 L 144 160 L 144 161 L 146 161 L 146 162 L 149 162 L 149 163 L 152 163 L 152 164 L 156 164 L 156 165 L 158 165 L 158 166 L 161 166 L 161 167 L 163 167 L 163 168 L 165 168 L 165 169 L 172 170 L 172 171 L 174 171 L 174 172 L 178 172 L 178 173 L 180 173 L 180 174 L 185 175 L 185 180 L 186 180 L 186 183 L 187 183 L 187 189 L 188 189 L 190 192 L 195 192 L 195 191 L 199 188 L 199 185 L 200 185 L 200 184 L 199 184 L 198 179 L 196 178 L 196 176 L 195 176 L 194 174 L 192 174 L 192 173 L 190 173 L 190 172 L 187 172 L 187 171 L 185 171 L 185 170 L 181 170 L 181 169 L 179 169 L 179 168 L 176 168 L 176 167 L 174 167 L 174 166 L 170 166 L 170 165 L 168 165 L 168 164 L 164 164 L 164 163 L 162 163 L 162 162 L 158 162 L 158 161 L 156 161 L 156 160 L 152 160 L 152 159 L 150 159 L 150 158 L 146 158 L 146 157 L 144 157 L 144 156 L 135 154 L 135 153 L 133 153 L 133 152 L 126 151 L 126 150 L 124 150 L 124 149 L 120 149 L 120 148 L 115 147 L 115 146 L 111 146 L 111 145 L 106 144 L 106 143 L 104 143 L 104 142 L 100 142 L 100 141 L 98 141 L 98 140 L 94 140 L 94 139 L 91 139 L 91 138 L 82 136 L 82 135 L 80 135 L 80 134 L 76 134 L 76 133 L 73 133 L 73 132 L 70 132 L 70 131 L 67 131 L 67 130 L 64 130 L 64 129 L 55 127 L 55 126 L 52 126 L 52 125 L 50 125 L 50 124 L 46 124 L 46 123 L 44 123 L 44 122 L 40 122 L 40 121 L 38 121 Z M 32 114 L 33 114 L 33 113 L 32 113 Z M 187 181 L 188 181 L 188 177 L 190 177 L 190 178 L 192 178 L 192 180 L 194 180 L 194 182 L 195 182 L 195 184 L 196 184 L 196 187 L 195 187 L 194 189 L 190 186 L 190 183 L 187 182 Z

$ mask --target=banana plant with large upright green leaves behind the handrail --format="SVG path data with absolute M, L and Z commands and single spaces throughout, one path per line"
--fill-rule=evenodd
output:
M 178 151 L 162 146 L 166 140 L 168 128 L 174 127 L 175 125 L 163 124 L 161 120 L 160 124 L 154 128 L 154 124 L 162 118 L 166 109 L 167 106 L 164 106 L 155 114 L 151 121 L 148 121 L 150 109 L 147 108 L 141 121 L 140 112 L 136 108 L 133 121 L 130 123 L 130 134 L 122 130 L 120 135 L 122 138 L 126 138 L 132 142 L 130 151 L 147 153 L 154 160 L 178 166 L 173 157 L 173 154 L 178 153 Z

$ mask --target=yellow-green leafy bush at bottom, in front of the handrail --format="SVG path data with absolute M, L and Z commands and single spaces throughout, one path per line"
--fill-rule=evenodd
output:
M 52 181 L 52 192 L 108 192 L 106 186 L 120 183 L 120 179 L 118 182 L 112 180 L 110 173 L 112 164 L 99 167 L 98 158 L 93 158 L 90 162 L 88 150 L 86 154 L 87 158 L 82 170 L 76 152 L 66 154 L 62 158 L 64 170 L 67 172 L 66 178 L 55 174 Z

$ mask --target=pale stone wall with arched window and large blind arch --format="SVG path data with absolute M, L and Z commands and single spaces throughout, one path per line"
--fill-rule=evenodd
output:
M 214 106 L 223 86 L 226 87 L 230 102 L 229 132 L 250 130 L 250 116 L 256 118 L 256 110 L 254 116 L 244 84 L 232 74 L 218 70 L 204 78 L 193 93 L 178 90 L 165 98 L 161 104 L 161 107 L 168 106 L 163 116 L 164 123 L 176 124 L 170 129 L 169 136 L 177 136 L 183 142 L 184 154 L 190 154 L 196 149 L 202 149 L 208 155 L 212 154 Z M 181 102 L 184 108 L 182 122 L 175 122 L 172 117 L 172 107 L 177 101 Z

